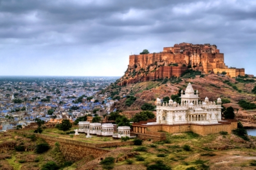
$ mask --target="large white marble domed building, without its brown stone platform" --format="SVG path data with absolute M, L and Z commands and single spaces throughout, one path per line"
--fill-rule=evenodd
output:
M 194 91 L 192 85 L 188 84 L 185 94 L 181 91 L 181 104 L 173 102 L 162 103 L 157 98 L 157 123 L 198 123 L 211 124 L 221 120 L 221 99 L 217 103 L 209 102 L 206 97 L 204 102 L 198 102 L 198 91 Z M 150 124 L 150 123 L 149 123 Z

